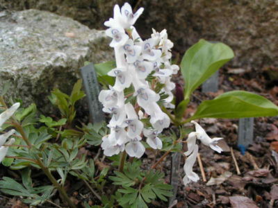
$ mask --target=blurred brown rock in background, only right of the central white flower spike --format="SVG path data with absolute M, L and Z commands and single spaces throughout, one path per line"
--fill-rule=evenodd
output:
M 204 38 L 231 46 L 232 67 L 278 67 L 278 1 L 152 0 L 140 6 L 146 9 L 138 25 L 167 28 L 179 51 Z

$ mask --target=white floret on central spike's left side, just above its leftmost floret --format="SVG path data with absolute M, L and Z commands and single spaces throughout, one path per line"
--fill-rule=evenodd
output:
M 116 77 L 115 85 L 113 86 L 113 88 L 118 92 L 122 92 L 125 88 L 131 85 L 132 76 L 131 73 L 126 69 L 112 69 L 108 72 L 108 75 Z

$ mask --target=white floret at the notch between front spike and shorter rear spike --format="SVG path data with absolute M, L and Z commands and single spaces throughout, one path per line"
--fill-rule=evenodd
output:
M 161 50 L 154 49 L 156 40 L 149 38 L 142 42 L 142 58 L 154 61 L 161 58 Z

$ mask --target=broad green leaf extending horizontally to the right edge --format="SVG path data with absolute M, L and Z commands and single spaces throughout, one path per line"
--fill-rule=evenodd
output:
M 277 116 L 278 107 L 267 98 L 245 91 L 226 92 L 211 101 L 203 101 L 189 121 L 201 118 L 236 119 Z

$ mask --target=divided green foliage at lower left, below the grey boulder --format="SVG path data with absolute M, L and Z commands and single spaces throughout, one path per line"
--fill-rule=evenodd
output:
M 85 95 L 81 91 L 81 80 L 79 80 L 72 90 L 72 94 L 67 96 L 58 89 L 51 94 L 51 101 L 55 101 L 62 117 L 59 121 L 54 121 L 51 117 L 41 115 L 38 118 L 35 104 L 29 107 L 20 108 L 15 116 L 2 126 L 1 130 L 15 128 L 17 130 L 14 137 L 15 143 L 8 148 L 6 159 L 2 164 L 9 166 L 13 170 L 21 170 L 22 184 L 16 182 L 13 178 L 3 177 L 0 182 L 0 189 L 3 193 L 13 196 L 24 196 L 24 202 L 30 205 L 39 205 L 43 202 L 51 202 L 49 199 L 58 189 L 61 198 L 69 207 L 76 207 L 64 188 L 67 174 L 70 171 L 78 171 L 87 165 L 85 155 L 77 157 L 79 148 L 85 145 L 83 132 L 79 132 L 76 137 L 74 130 L 62 130 L 61 126 L 70 126 L 76 111 L 74 104 Z M 8 89 L 8 87 L 6 87 Z M 6 110 L 8 107 L 4 101 L 4 90 L 0 96 L 1 107 Z M 39 121 L 41 123 L 39 123 Z M 69 121 L 69 122 L 67 122 Z M 43 125 L 45 124 L 45 125 Z M 58 129 L 59 128 L 59 129 Z M 75 134 L 74 134 L 75 133 Z M 60 143 L 49 142 L 58 139 Z M 92 165 L 92 164 L 90 164 Z M 52 185 L 33 187 L 31 179 L 32 168 L 39 168 L 48 177 Z M 57 171 L 60 180 L 56 180 L 51 172 Z

